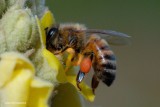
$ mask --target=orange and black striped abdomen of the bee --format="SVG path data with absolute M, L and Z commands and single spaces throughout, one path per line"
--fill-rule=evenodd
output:
M 97 78 L 110 86 L 116 74 L 116 58 L 108 43 L 99 37 L 94 38 L 92 44 L 95 54 L 93 68 Z

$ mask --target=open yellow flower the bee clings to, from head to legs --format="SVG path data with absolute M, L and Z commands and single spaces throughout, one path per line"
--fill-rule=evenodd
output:
M 53 25 L 54 23 L 54 18 L 53 15 L 50 11 L 47 11 L 46 14 L 44 14 L 44 16 L 41 19 L 41 23 L 39 22 L 39 20 L 37 19 L 38 25 L 39 25 L 39 32 L 40 32 L 40 39 L 43 45 L 43 55 L 44 57 L 48 60 L 48 63 L 50 65 L 50 67 L 52 68 L 59 68 L 56 69 L 56 71 L 59 72 L 59 74 L 61 73 L 61 75 L 59 76 L 59 80 L 67 78 L 67 82 L 71 83 L 72 85 L 74 85 L 76 87 L 76 89 L 79 91 L 79 89 L 77 88 L 76 85 L 76 76 L 77 76 L 77 72 L 75 72 L 77 69 L 75 69 L 76 67 L 71 67 L 71 69 L 69 69 L 67 72 L 70 73 L 66 73 L 65 75 L 62 76 L 62 72 L 64 72 L 63 66 L 60 64 L 59 61 L 56 60 L 56 57 L 49 52 L 48 50 L 45 49 L 45 42 L 46 42 L 46 35 L 45 35 L 45 31 L 44 29 L 47 27 L 50 27 L 51 25 Z M 46 55 L 47 54 L 47 55 Z M 70 55 L 68 55 L 68 58 L 66 61 L 70 60 Z M 51 64 L 54 63 L 54 64 Z M 56 66 L 55 66 L 56 65 Z M 82 82 L 80 84 L 82 90 L 80 91 L 80 93 L 89 101 L 93 101 L 95 98 L 95 95 L 92 92 L 92 89 L 87 86 L 84 82 Z

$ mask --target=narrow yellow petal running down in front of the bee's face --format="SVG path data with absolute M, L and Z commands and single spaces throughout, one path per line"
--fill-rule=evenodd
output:
M 47 18 L 49 18 L 49 19 L 47 19 Z M 38 29 L 40 32 L 41 44 L 42 44 L 42 55 L 43 55 L 44 59 L 47 60 L 49 66 L 53 69 L 55 75 L 57 75 L 58 82 L 66 82 L 66 76 L 65 76 L 65 72 L 64 72 L 62 64 L 57 59 L 57 57 L 54 56 L 53 53 L 51 53 L 50 51 L 48 51 L 45 48 L 46 47 L 46 44 L 45 44 L 46 43 L 46 35 L 45 35 L 44 27 L 47 27 L 47 26 L 50 26 L 51 24 L 53 24 L 53 20 L 51 20 L 52 18 L 53 18 L 53 16 L 50 11 L 46 12 L 46 14 L 43 16 L 43 18 L 41 20 L 42 23 L 36 17 Z M 44 19 L 49 20 L 49 21 L 45 21 Z M 47 24 L 45 24 L 45 22 Z

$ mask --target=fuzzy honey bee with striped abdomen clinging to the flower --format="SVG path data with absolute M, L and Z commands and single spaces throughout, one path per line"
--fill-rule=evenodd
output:
M 52 26 L 46 28 L 46 36 L 46 48 L 53 54 L 58 55 L 69 49 L 73 50 L 73 58 L 70 61 L 80 66 L 76 79 L 80 90 L 79 84 L 93 67 L 91 82 L 93 93 L 100 81 L 110 86 L 116 77 L 116 57 L 108 43 L 123 45 L 129 38 L 124 33 L 87 29 L 82 24 Z

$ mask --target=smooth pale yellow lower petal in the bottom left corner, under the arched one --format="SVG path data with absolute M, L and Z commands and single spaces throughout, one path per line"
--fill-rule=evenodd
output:
M 13 79 L 0 89 L 3 107 L 26 107 L 32 73 L 29 70 L 16 70 Z

